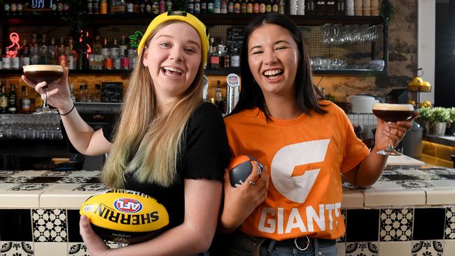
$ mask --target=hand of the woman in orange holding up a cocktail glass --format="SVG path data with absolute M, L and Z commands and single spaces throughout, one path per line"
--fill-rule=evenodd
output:
M 398 121 L 387 123 L 384 120 L 377 118 L 376 134 L 374 135 L 375 148 L 383 150 L 388 145 L 388 139 L 391 139 L 393 147 L 398 145 L 405 136 L 406 132 L 412 128 L 412 120 L 419 115 L 419 112 L 414 112 L 412 118 L 406 121 Z

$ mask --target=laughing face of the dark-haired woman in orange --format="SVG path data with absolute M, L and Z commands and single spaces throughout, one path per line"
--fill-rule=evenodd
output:
M 297 43 L 288 29 L 263 24 L 249 36 L 248 64 L 266 100 L 294 99 L 298 62 Z

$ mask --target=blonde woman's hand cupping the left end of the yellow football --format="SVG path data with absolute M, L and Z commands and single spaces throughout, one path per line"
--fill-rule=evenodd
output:
M 94 233 L 90 226 L 90 221 L 86 215 L 80 216 L 79 233 L 87 246 L 87 250 L 92 256 L 106 256 L 109 253 L 109 246 L 104 243 L 103 239 Z

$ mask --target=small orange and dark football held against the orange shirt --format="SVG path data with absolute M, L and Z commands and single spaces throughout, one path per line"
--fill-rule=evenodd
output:
M 250 176 L 251 171 L 253 170 L 252 161 L 258 162 L 258 174 L 260 178 L 263 166 L 254 157 L 249 155 L 239 155 L 231 160 L 228 166 L 228 171 L 232 187 L 239 187 L 245 182 L 246 178 Z

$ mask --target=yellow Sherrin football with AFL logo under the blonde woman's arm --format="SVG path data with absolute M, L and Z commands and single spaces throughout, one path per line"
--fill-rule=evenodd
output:
M 153 239 L 169 224 L 165 206 L 153 197 L 132 190 L 106 190 L 89 197 L 80 206 L 95 233 L 118 243 Z

